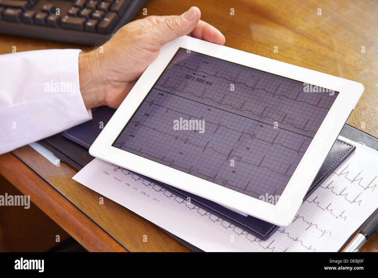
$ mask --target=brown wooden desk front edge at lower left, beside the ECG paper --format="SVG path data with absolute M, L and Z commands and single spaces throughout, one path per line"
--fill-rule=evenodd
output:
M 21 192 L 27 191 L 27 195 L 31 195 L 31 201 L 36 203 L 48 216 L 51 213 L 55 216 L 55 211 L 63 211 L 57 218 L 50 217 L 61 225 L 77 242 L 80 244 L 84 242 L 85 245 L 82 245 L 87 250 L 129 250 L 132 252 L 179 252 L 189 250 L 156 225 L 71 179 L 77 170 L 70 165 L 60 163 L 60 166 L 55 166 L 30 146 L 23 146 L 15 150 L 14 154 L 23 163 L 38 172 L 40 177 L 35 174 L 34 176 L 38 181 L 40 178 L 45 181 L 43 188 L 39 188 L 40 185 L 33 183 L 33 175 L 30 177 L 22 175 L 22 179 L 18 179 L 17 176 L 20 170 L 15 167 L 14 163 L 15 160 L 19 162 L 20 160 L 9 153 L 0 155 L 0 175 L 7 179 L 10 175 L 12 180 L 9 180 L 9 182 Z M 8 163 L 9 160 L 12 162 Z M 21 163 L 23 165 L 22 168 L 27 168 L 23 163 Z M 21 170 L 22 173 L 23 170 Z M 31 171 L 30 169 L 28 170 Z M 46 193 L 48 195 L 44 196 Z M 57 207 L 54 204 L 54 200 L 50 200 L 58 195 L 63 197 L 61 207 Z M 103 204 L 100 203 L 100 197 L 104 198 Z M 42 202 L 46 200 L 50 207 L 44 207 L 43 204 L 41 206 L 38 205 L 41 198 Z M 63 199 L 66 202 L 63 202 Z M 76 209 L 73 207 L 76 207 Z M 65 223 L 65 219 L 69 220 L 69 222 Z M 84 236 L 88 237 L 88 240 L 83 238 Z M 147 242 L 143 241 L 144 236 L 147 236 Z

